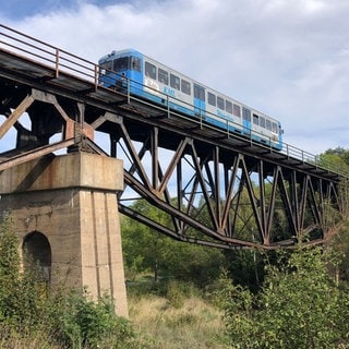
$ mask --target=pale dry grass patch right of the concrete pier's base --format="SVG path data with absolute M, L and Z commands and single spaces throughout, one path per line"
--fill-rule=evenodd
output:
M 130 317 L 136 332 L 154 349 L 224 349 L 221 314 L 202 299 L 191 297 L 181 308 L 165 298 L 129 299 Z

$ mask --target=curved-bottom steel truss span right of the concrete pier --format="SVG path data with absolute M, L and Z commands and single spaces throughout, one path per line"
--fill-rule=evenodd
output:
M 119 197 L 127 216 L 178 240 L 226 249 L 326 238 L 328 216 L 339 204 L 333 181 L 190 136 L 163 152 L 159 140 L 168 133 L 158 127 L 147 128 L 136 147 L 123 119 L 116 124 L 112 153 L 128 159 L 127 190 Z M 146 200 L 167 216 L 166 224 L 133 209 L 125 196 Z

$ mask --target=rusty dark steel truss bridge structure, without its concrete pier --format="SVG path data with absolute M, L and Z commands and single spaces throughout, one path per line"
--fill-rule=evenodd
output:
M 48 154 L 118 157 L 119 210 L 171 238 L 222 249 L 323 243 L 340 221 L 346 176 L 227 130 L 99 86 L 97 64 L 0 25 L 0 171 Z

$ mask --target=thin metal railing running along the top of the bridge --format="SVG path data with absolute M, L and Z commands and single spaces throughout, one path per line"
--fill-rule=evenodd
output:
M 55 77 L 59 77 L 61 73 L 69 74 L 76 79 L 86 81 L 92 83 L 95 88 L 99 87 L 99 65 L 93 63 L 86 59 L 72 55 L 68 51 L 64 51 L 60 48 L 51 46 L 47 43 L 38 40 L 34 37 L 31 37 L 26 34 L 17 32 L 13 28 L 10 28 L 3 24 L 0 24 L 0 50 L 8 51 L 10 53 L 14 53 L 26 59 L 29 59 L 33 62 L 36 62 L 40 65 L 47 67 L 50 70 L 55 71 Z M 128 88 L 125 92 L 128 101 L 137 99 L 136 97 L 130 94 L 130 81 L 128 82 Z M 105 87 L 104 87 L 105 88 Z M 149 88 L 147 86 L 147 88 Z M 110 88 L 112 91 L 112 88 Z M 160 92 L 156 91 L 157 94 L 161 94 Z M 167 101 L 167 107 L 163 107 L 166 112 L 171 112 L 171 115 L 176 115 L 179 118 L 189 119 L 183 113 L 176 112 L 173 110 L 169 110 L 170 103 L 176 103 L 176 98 L 170 97 L 166 94 L 164 95 L 164 99 Z M 145 103 L 143 100 L 143 103 Z M 183 104 L 181 101 L 181 104 Z M 159 107 L 157 107 L 159 108 Z M 193 106 L 191 106 L 193 108 Z M 217 116 L 215 116 L 217 118 Z M 192 120 L 193 122 L 200 122 L 201 125 L 204 124 L 204 120 L 201 119 L 198 121 Z M 227 124 L 227 129 L 221 129 L 219 131 L 226 133 L 228 136 L 232 136 L 230 128 L 233 127 L 233 122 L 225 120 Z M 209 127 L 207 123 L 205 128 L 213 128 Z M 215 128 L 217 131 L 217 128 Z M 233 134 L 234 137 L 239 139 L 238 134 Z M 261 135 L 262 136 L 262 135 Z M 241 137 L 241 136 L 240 136 Z M 264 136 L 265 137 L 265 136 Z M 244 140 L 245 139 L 242 139 Z M 270 140 L 272 141 L 272 140 Z M 324 169 L 328 172 L 337 173 L 341 177 L 349 178 L 349 168 L 347 166 L 340 166 L 337 164 L 333 164 L 326 161 L 323 157 L 318 155 L 313 155 L 305 151 L 302 151 L 298 147 L 294 147 L 290 144 L 284 143 L 281 151 L 276 151 L 272 147 L 272 145 L 266 145 L 260 142 L 256 142 L 251 139 L 252 144 L 256 144 L 257 146 L 266 147 L 270 152 L 280 153 L 286 155 L 289 158 L 293 158 L 300 160 L 304 164 L 313 165 L 317 168 Z M 272 144 L 272 142 L 268 142 Z

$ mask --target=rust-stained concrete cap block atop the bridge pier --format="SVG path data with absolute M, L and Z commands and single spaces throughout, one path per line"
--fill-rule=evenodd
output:
M 122 161 L 88 153 L 48 156 L 0 172 L 0 194 L 62 188 L 123 190 Z

